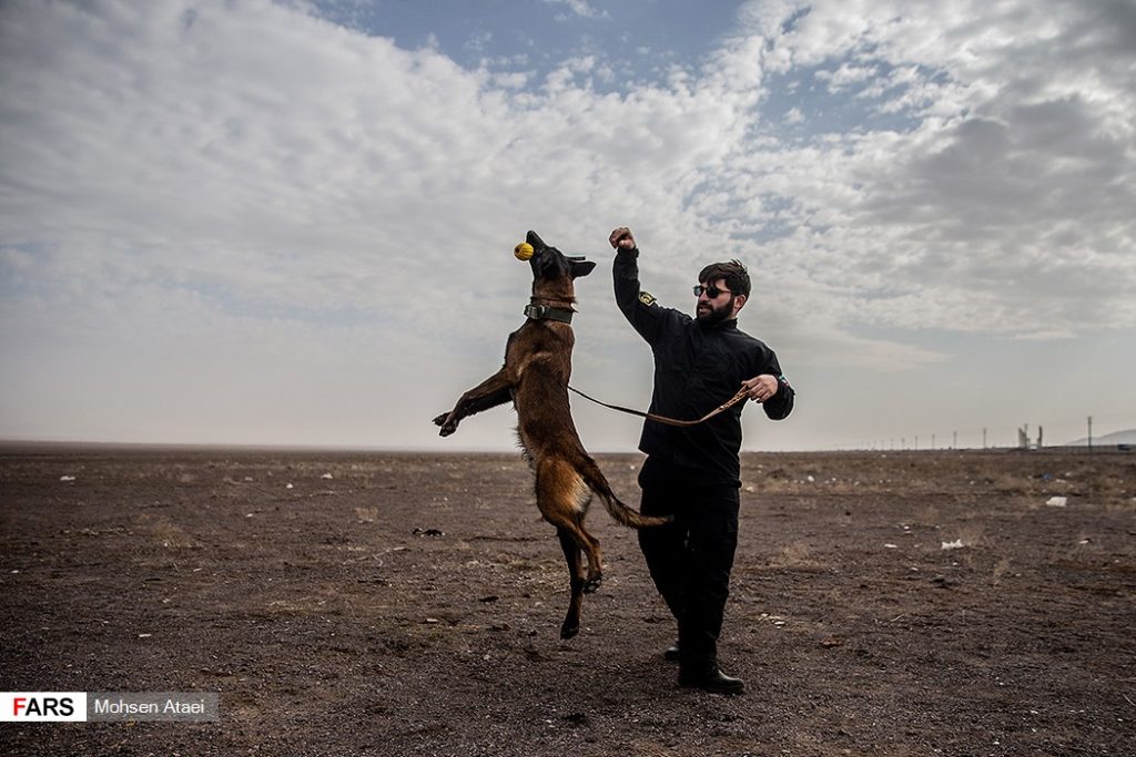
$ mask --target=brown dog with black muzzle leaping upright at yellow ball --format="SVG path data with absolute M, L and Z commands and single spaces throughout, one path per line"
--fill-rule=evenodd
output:
M 638 514 L 611 491 L 599 465 L 579 440 L 568 404 L 571 350 L 576 342 L 571 316 L 576 302 L 574 279 L 587 276 L 595 263 L 568 258 L 529 232 L 533 245 L 533 296 L 525 314 L 528 320 L 509 335 L 504 365 L 466 392 L 449 413 L 434 419 L 449 436 L 461 419 L 512 399 L 517 409 L 517 434 L 536 476 L 536 506 L 560 538 L 571 586 L 568 614 L 560 638 L 579 632 L 584 594 L 595 591 L 602 580 L 600 541 L 584 530 L 592 494 L 600 497 L 613 519 L 624 525 L 661 525 L 667 518 Z M 587 556 L 584 573 L 582 556 Z

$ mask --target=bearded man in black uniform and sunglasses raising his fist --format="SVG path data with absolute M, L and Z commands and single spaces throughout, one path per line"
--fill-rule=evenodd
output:
M 616 303 L 654 354 L 651 412 L 679 420 L 702 418 L 745 388 L 772 420 L 793 410 L 793 388 L 777 355 L 737 328 L 750 296 L 750 276 L 737 261 L 713 263 L 699 275 L 695 317 L 662 308 L 640 289 L 638 247 L 630 229 L 609 238 Z M 640 449 L 644 515 L 675 521 L 638 532 L 654 584 L 678 621 L 679 685 L 742 693 L 745 684 L 718 666 L 729 572 L 737 547 L 738 489 L 744 403 L 704 423 L 674 427 L 648 420 Z

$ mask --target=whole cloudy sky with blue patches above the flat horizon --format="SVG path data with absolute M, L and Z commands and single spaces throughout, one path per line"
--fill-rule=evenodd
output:
M 573 385 L 645 409 L 617 226 L 685 312 L 750 267 L 797 403 L 745 449 L 1101 436 L 1134 208 L 1131 0 L 3 0 L 0 438 L 511 449 L 507 406 L 431 419 L 524 322 L 529 229 L 599 263 Z

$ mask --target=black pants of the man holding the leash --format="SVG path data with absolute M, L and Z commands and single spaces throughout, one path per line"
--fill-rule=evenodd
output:
M 679 665 L 701 673 L 717 664 L 737 549 L 738 491 L 733 485 L 699 483 L 694 476 L 648 459 L 640 472 L 640 511 L 675 521 L 641 529 L 638 540 L 654 586 L 678 621 Z

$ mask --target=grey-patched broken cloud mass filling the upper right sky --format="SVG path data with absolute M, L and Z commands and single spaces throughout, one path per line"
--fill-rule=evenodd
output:
M 767 36 L 779 30 L 767 52 L 779 70 L 818 72 L 837 91 L 886 72 L 859 96 L 911 119 L 903 131 L 743 146 L 717 187 L 785 199 L 766 228 L 795 229 L 779 245 L 802 261 L 802 279 L 845 285 L 832 309 L 878 325 L 1024 335 L 1130 322 L 1136 177 L 1118 109 L 1133 104 L 1134 53 L 1104 43 L 1124 35 L 1110 28 L 1118 8 L 787 10 L 791 24 L 753 22 Z M 1112 52 L 1086 54 L 1094 45 Z M 800 124 L 800 112 L 786 121 Z M 742 207 L 727 222 L 761 218 Z

